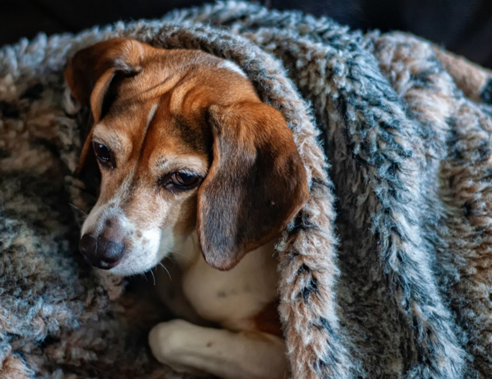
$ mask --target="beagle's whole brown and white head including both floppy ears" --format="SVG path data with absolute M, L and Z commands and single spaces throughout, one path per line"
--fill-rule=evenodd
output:
M 94 121 L 78 169 L 92 150 L 101 190 L 80 251 L 96 267 L 144 272 L 198 233 L 227 270 L 309 198 L 292 132 L 232 62 L 116 38 L 79 51 L 65 80 Z

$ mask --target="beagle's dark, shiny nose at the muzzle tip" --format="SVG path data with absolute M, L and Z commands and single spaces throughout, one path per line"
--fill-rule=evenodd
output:
M 85 261 L 94 267 L 109 270 L 123 258 L 123 243 L 115 242 L 98 236 L 84 234 L 79 242 L 79 250 Z

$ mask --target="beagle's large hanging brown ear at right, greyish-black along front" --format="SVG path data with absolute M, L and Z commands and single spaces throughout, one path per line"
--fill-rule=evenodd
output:
M 233 268 L 276 237 L 309 200 L 306 171 L 281 114 L 263 103 L 212 106 L 213 162 L 198 191 L 205 260 Z

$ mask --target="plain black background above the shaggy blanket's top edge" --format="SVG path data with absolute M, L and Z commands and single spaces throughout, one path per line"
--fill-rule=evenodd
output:
M 0 46 L 118 20 L 158 18 L 200 0 L 0 0 Z M 212 2 L 212 1 L 208 1 Z M 492 0 L 262 0 L 363 30 L 410 31 L 492 68 Z

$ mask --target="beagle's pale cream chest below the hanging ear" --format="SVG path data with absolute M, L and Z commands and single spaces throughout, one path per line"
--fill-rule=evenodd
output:
M 210 267 L 198 254 L 184 272 L 184 295 L 206 320 L 228 329 L 254 328 L 254 317 L 277 297 L 273 252 L 273 243 L 262 246 L 230 271 Z

